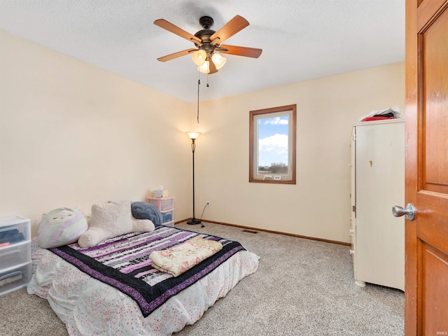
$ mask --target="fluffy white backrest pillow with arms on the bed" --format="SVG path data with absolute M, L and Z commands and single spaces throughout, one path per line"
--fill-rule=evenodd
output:
M 78 244 L 82 248 L 88 248 L 96 246 L 104 239 L 154 229 L 152 221 L 132 216 L 131 204 L 128 201 L 93 204 L 89 229 L 80 235 Z

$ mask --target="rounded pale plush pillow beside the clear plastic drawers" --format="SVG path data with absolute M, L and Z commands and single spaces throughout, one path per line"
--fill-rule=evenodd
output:
M 37 231 L 38 244 L 42 248 L 71 244 L 86 230 L 87 219 L 78 209 L 55 209 L 43 215 Z

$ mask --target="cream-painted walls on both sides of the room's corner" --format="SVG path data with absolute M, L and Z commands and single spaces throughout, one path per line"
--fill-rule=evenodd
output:
M 275 87 L 196 106 L 1 33 L 0 216 L 144 200 L 164 185 L 176 221 L 204 219 L 349 241 L 351 125 L 404 110 L 404 64 Z M 224 76 L 221 72 L 214 76 Z M 237 78 L 235 78 L 237 80 Z M 209 90 L 213 90 L 210 87 Z M 297 104 L 297 184 L 248 183 L 248 111 Z

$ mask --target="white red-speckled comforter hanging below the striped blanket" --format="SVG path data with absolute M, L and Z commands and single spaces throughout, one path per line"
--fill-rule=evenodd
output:
M 39 248 L 36 241 L 32 259 L 35 272 L 28 293 L 48 300 L 69 335 L 92 336 L 172 335 L 199 320 L 216 300 L 258 268 L 257 255 L 239 251 L 144 318 L 130 297 Z

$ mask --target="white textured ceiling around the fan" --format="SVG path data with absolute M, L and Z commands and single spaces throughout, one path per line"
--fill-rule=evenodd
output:
M 201 74 L 201 100 L 405 59 L 405 0 L 0 0 L 1 29 L 187 102 L 199 78 L 191 57 L 157 58 L 194 45 L 153 22 L 195 34 L 204 15 L 214 30 L 246 18 L 224 44 L 263 52 Z

